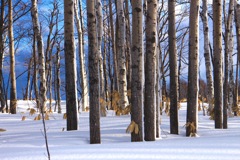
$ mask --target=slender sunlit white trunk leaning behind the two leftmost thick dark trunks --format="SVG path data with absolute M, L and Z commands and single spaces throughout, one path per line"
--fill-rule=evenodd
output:
M 81 80 L 82 111 L 85 111 L 88 105 L 88 84 L 87 84 L 87 72 L 85 67 L 85 56 L 84 56 L 84 49 L 83 49 L 82 24 L 81 24 L 81 19 L 78 16 L 79 9 L 77 7 L 77 4 L 78 4 L 78 0 L 75 0 L 74 10 L 75 10 L 75 18 L 76 18 L 76 24 L 77 24 L 77 33 L 78 33 L 78 54 L 80 59 L 80 74 L 82 78 Z M 80 5 L 81 4 L 82 4 L 82 1 L 80 0 Z

